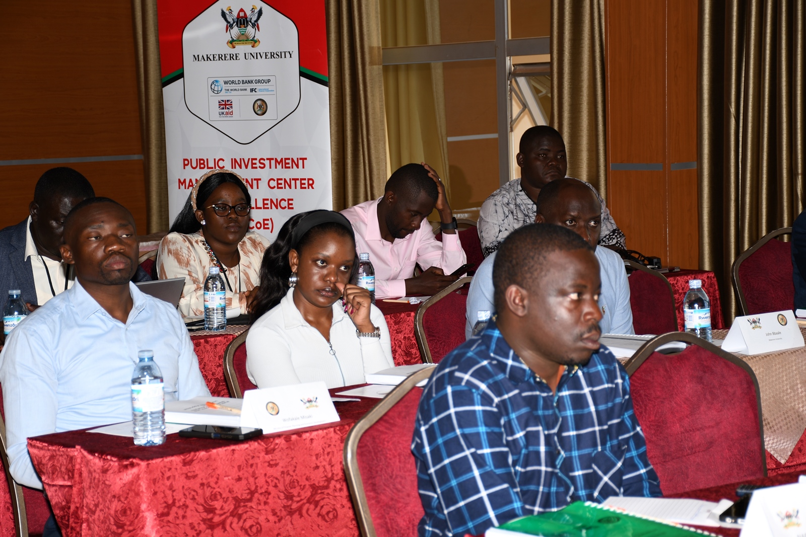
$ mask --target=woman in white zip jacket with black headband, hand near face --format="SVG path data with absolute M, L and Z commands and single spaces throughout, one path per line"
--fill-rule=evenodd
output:
M 347 218 L 318 210 L 285 222 L 260 266 L 247 336 L 251 382 L 334 388 L 394 366 L 383 314 L 369 291 L 350 283 L 357 270 Z

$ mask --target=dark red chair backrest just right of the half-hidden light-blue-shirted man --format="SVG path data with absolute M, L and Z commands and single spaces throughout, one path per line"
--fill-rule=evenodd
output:
M 641 263 L 625 261 L 629 273 L 629 308 L 637 334 L 677 332 L 675 292 L 669 280 Z

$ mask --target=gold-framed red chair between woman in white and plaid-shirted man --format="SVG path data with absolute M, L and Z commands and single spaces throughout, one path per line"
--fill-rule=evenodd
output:
M 471 280 L 470 276 L 457 279 L 420 304 L 414 314 L 414 338 L 426 364 L 438 364 L 442 357 L 464 343 L 467 293 L 459 295 L 454 291 Z

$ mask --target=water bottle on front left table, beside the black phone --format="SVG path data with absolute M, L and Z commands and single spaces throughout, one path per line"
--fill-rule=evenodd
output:
M 165 441 L 165 393 L 154 351 L 141 350 L 131 375 L 131 418 L 135 445 L 156 446 Z

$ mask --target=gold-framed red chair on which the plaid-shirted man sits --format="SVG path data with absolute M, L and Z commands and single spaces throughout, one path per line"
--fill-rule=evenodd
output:
M 417 535 L 424 511 L 411 453 L 422 395 L 416 385 L 433 371 L 429 367 L 409 375 L 347 434 L 344 473 L 363 537 Z

